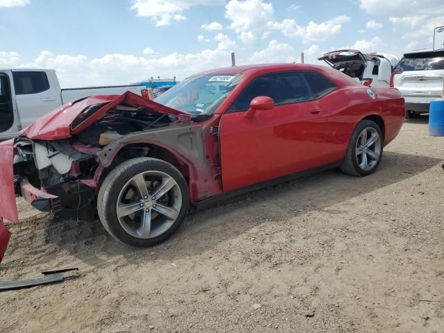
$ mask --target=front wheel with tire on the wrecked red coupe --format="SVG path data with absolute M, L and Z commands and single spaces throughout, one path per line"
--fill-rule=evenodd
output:
M 171 164 L 139 157 L 103 180 L 97 199 L 103 227 L 130 246 L 153 246 L 173 234 L 189 207 L 185 178 Z

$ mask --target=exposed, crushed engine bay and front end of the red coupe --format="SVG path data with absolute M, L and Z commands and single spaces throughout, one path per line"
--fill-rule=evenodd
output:
M 91 105 L 73 121 L 74 128 L 91 117 L 103 104 Z M 130 133 L 170 126 L 178 117 L 127 105 L 116 105 L 77 135 L 67 139 L 38 140 L 19 137 L 15 141 L 14 180 L 16 194 L 34 198 L 31 204 L 42 211 L 74 212 L 90 219 L 94 214 L 94 194 L 106 170 L 99 161 L 103 147 Z M 150 148 L 133 144 L 114 159 L 118 164 L 133 157 L 146 157 Z M 34 193 L 24 193 L 28 188 Z M 35 193 L 35 189 L 41 189 Z M 49 194 L 49 195 L 45 195 Z M 52 199 L 51 195 L 57 196 Z M 46 198 L 49 196 L 49 198 Z M 85 216 L 87 214 L 88 216 Z M 66 214 L 60 216 L 66 219 Z

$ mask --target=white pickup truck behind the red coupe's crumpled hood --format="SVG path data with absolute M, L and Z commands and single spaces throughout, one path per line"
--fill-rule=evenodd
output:
M 144 85 L 60 89 L 53 69 L 0 69 L 0 140 L 17 136 L 19 130 L 63 104 L 127 91 L 148 96 Z

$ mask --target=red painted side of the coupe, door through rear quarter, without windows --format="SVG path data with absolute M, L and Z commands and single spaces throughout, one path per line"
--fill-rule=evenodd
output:
M 345 156 L 353 129 L 365 117 L 382 118 L 385 143 L 398 134 L 404 121 L 402 95 L 395 89 L 373 88 L 377 99 L 372 99 L 367 87 L 335 69 L 259 67 L 244 74 L 246 80 L 236 90 L 240 92 L 258 75 L 295 68 L 317 71 L 337 89 L 316 101 L 256 110 L 251 119 L 246 117 L 247 111 L 223 114 L 219 133 L 224 192 L 338 162 Z M 230 96 L 225 110 L 235 97 Z

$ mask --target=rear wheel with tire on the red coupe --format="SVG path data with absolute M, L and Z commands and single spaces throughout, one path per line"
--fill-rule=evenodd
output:
M 381 162 L 382 132 L 373 121 L 360 121 L 348 144 L 341 170 L 352 176 L 367 176 L 373 173 Z

